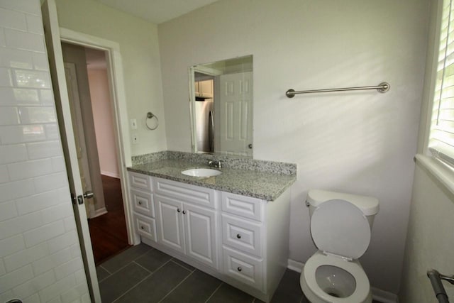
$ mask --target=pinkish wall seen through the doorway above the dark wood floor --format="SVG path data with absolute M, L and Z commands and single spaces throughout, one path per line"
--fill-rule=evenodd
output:
M 88 67 L 88 80 L 90 96 L 92 97 L 93 115 L 95 117 L 94 130 L 96 132 L 101 174 L 118 178 L 120 173 L 118 172 L 118 157 L 107 71 Z

